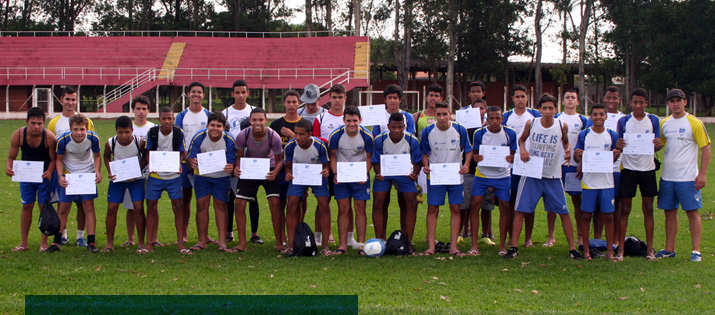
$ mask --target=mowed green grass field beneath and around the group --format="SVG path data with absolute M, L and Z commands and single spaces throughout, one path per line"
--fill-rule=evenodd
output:
M 6 157 L 9 136 L 24 121 L 0 124 L 0 156 Z M 113 120 L 95 121 L 103 141 L 114 135 Z M 711 135 L 715 126 L 709 125 Z M 104 144 L 104 142 L 102 143 Z M 663 153 L 660 153 L 662 159 Z M 701 213 L 715 205 L 715 180 L 711 166 L 708 185 L 703 190 Z M 97 243 L 104 247 L 104 219 L 108 180 L 96 199 Z M 217 246 L 191 256 L 182 256 L 175 245 L 156 248 L 154 253 L 137 255 L 136 247 L 124 249 L 126 240 L 124 210 L 120 210 L 116 246 L 112 253 L 90 254 L 84 248 L 65 246 L 54 254 L 38 253 L 39 211 L 35 209 L 30 230 L 30 250 L 13 253 L 19 243 L 20 192 L 17 183 L 0 179 L 0 312 L 24 311 L 27 295 L 357 295 L 359 310 L 365 313 L 506 313 L 506 312 L 715 312 L 715 229 L 712 219 L 703 219 L 703 262 L 691 263 L 688 220 L 680 213 L 677 258 L 646 261 L 626 258 L 613 263 L 606 259 L 573 261 L 568 259 L 566 239 L 557 224 L 557 243 L 543 248 L 546 239 L 546 214 L 537 209 L 534 248 L 521 248 L 520 256 L 506 260 L 497 248 L 480 244 L 481 256 L 452 257 L 361 257 L 350 250 L 333 257 L 283 258 L 273 249 L 270 212 L 263 191 L 260 235 L 263 245 L 249 244 L 244 253 L 224 254 Z M 164 195 L 166 196 L 166 195 Z M 166 197 L 164 197 L 166 198 Z M 568 199 L 568 198 L 567 198 Z M 399 228 L 399 209 L 393 193 L 388 233 Z M 337 238 L 337 206 L 332 203 L 333 231 Z M 368 238 L 374 235 L 368 202 Z M 640 199 L 634 199 L 629 234 L 645 239 Z M 166 199 L 160 205 L 159 240 L 173 244 L 173 214 Z M 315 200 L 309 199 L 307 222 L 313 226 Z M 189 244 L 197 241 L 193 217 Z M 427 205 L 420 204 L 415 232 L 418 251 L 426 248 L 425 215 Z M 68 223 L 70 241 L 75 238 L 77 222 L 73 208 Z M 449 238 L 449 212 L 441 208 L 437 239 Z M 493 216 L 495 232 L 498 215 Z M 213 218 L 213 211 L 211 211 Z M 664 216 L 655 210 L 655 249 L 664 247 Z M 213 219 L 209 233 L 216 237 Z M 498 235 L 498 233 L 495 233 Z M 523 236 L 522 236 L 523 237 Z M 468 239 L 467 242 L 470 240 Z M 523 242 L 523 239 L 521 240 Z M 235 246 L 234 244 L 232 244 Z M 467 243 L 460 244 L 463 251 Z M 336 246 L 333 246 L 334 250 Z M 190 301 L 190 300 L 189 300 Z M 127 302 L 131 303 L 131 302 Z M 51 310 L 47 310 L 50 312 Z

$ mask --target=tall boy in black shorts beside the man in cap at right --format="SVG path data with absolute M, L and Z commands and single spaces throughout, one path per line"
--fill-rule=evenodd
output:
M 654 152 L 663 148 L 660 141 L 660 120 L 658 116 L 646 113 L 648 93 L 636 88 L 631 92 L 631 109 L 633 112 L 618 120 L 618 143 L 616 146 L 623 151 L 621 155 L 620 187 L 618 196 L 621 198 L 621 211 L 616 218 L 616 240 L 623 241 L 628 229 L 628 215 L 631 214 L 633 197 L 636 188 L 640 186 L 645 224 L 646 244 L 648 253 L 646 259 L 655 259 L 653 251 L 653 199 L 658 195 L 658 184 L 655 179 Z M 627 139 L 625 139 L 627 138 Z M 632 140 L 632 141 L 631 141 Z M 631 150 L 645 148 L 645 150 Z M 623 258 L 624 246 L 618 248 L 616 257 Z

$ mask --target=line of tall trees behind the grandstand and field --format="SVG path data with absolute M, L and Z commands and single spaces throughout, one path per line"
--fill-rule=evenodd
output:
M 715 95 L 715 2 L 710 0 L 3 2 L 0 25 L 6 31 L 352 30 L 371 37 L 374 70 L 396 73 L 388 78 L 408 89 L 411 71 L 426 69 L 431 80 L 447 81 L 446 95 L 454 94 L 455 80 L 489 78 L 534 82 L 540 93 L 544 36 L 551 29 L 558 30 L 551 40 L 561 42 L 564 65 L 551 75 L 562 86 L 573 81 L 565 76 L 566 65 L 577 63 L 582 89 L 612 78 L 622 79 L 626 90 L 639 86 L 665 93 L 678 87 L 697 92 L 708 111 Z M 302 24 L 290 22 L 296 13 L 305 15 Z M 531 60 L 528 77 L 510 77 L 512 56 Z

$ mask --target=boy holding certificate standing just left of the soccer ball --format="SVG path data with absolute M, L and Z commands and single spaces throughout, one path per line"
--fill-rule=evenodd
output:
M 330 135 L 330 167 L 335 173 L 335 200 L 338 202 L 338 234 L 340 247 L 335 254 L 347 251 L 348 228 L 350 224 L 350 201 L 355 200 L 358 246 L 362 254 L 367 229 L 365 204 L 370 200 L 370 169 L 372 168 L 373 139 L 370 131 L 360 125 L 362 118 L 355 106 L 345 109 L 344 126 Z

